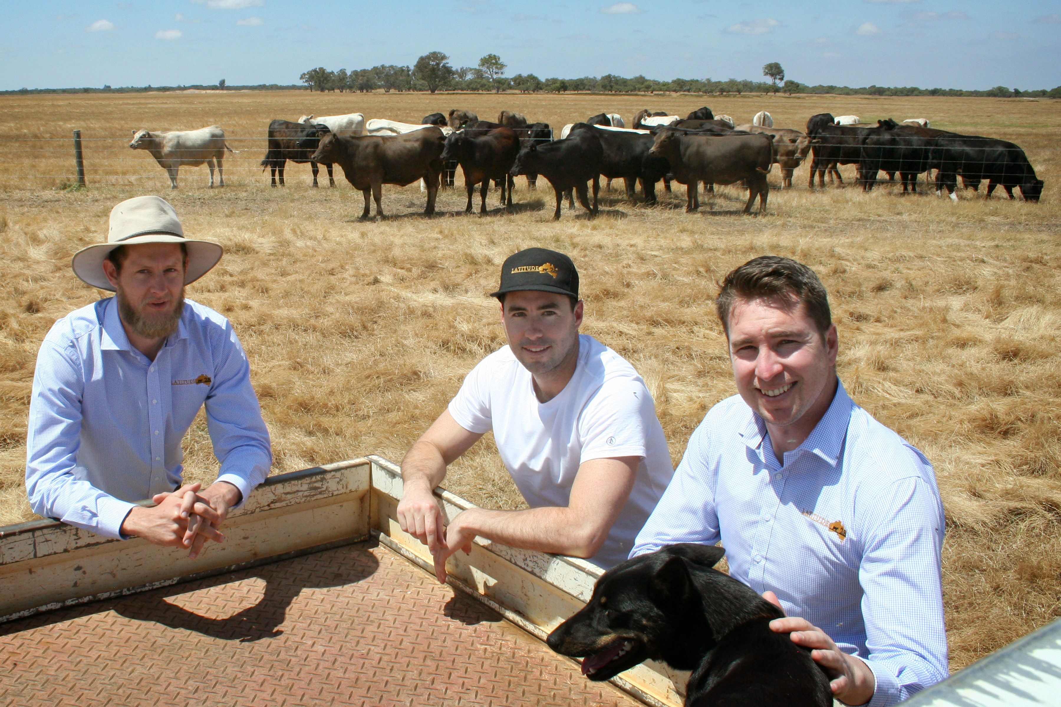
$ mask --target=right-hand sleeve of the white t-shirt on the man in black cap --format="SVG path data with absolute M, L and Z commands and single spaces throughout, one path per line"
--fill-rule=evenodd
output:
M 606 381 L 578 419 L 581 458 L 644 457 L 656 405 L 640 381 Z M 659 424 L 656 422 L 656 424 Z

